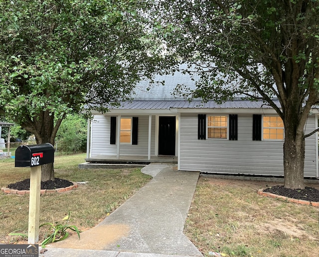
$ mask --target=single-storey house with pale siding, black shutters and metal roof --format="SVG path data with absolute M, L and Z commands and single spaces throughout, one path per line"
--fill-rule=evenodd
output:
M 158 78 L 159 79 L 159 78 Z M 193 87 L 184 74 L 161 77 L 164 86 L 137 86 L 134 100 L 89 122 L 87 161 L 140 156 L 176 156 L 178 170 L 208 173 L 283 175 L 284 125 L 260 101 L 222 104 L 175 98 L 177 84 Z M 318 127 L 318 111 L 305 132 Z M 120 143 L 119 143 L 120 142 Z M 319 177 L 318 133 L 306 139 L 305 177 Z

